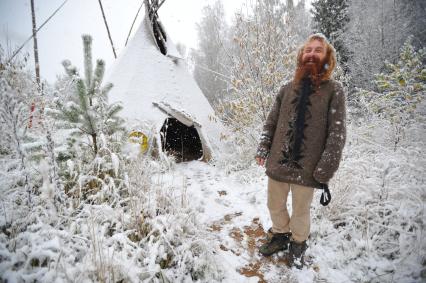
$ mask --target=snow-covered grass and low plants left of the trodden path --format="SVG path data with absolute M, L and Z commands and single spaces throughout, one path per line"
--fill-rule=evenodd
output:
M 162 164 L 128 164 L 128 191 L 117 201 L 17 204 L 2 191 L 0 274 L 8 282 L 219 281 L 222 272 L 185 184 L 168 183 Z M 4 183 L 3 183 L 4 184 Z M 73 202 L 75 203 L 75 202 Z

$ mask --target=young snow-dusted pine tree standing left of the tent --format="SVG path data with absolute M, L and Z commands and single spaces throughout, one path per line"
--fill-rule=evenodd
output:
M 122 106 L 108 103 L 112 84 L 102 86 L 104 61 L 97 60 L 93 68 L 91 44 L 92 38 L 84 35 L 84 78 L 69 61 L 63 62 L 71 87 L 59 90 L 52 114 L 67 137 L 66 149 L 62 147 L 58 155 L 65 192 L 77 201 L 103 202 L 117 196 L 124 186 L 119 152 L 125 129 L 118 116 Z

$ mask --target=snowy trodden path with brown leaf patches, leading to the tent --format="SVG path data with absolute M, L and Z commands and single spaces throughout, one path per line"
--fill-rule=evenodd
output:
M 312 282 L 314 271 L 293 274 L 280 254 L 270 259 L 258 254 L 270 222 L 266 177 L 260 171 L 256 174 L 258 182 L 247 184 L 245 180 L 253 176 L 227 175 L 203 162 L 189 162 L 178 164 L 172 179 L 185 185 L 189 205 L 209 227 L 226 270 L 224 282 L 301 282 L 301 277 Z

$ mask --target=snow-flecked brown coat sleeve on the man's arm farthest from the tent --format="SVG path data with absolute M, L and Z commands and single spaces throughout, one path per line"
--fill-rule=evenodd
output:
M 346 142 L 346 105 L 343 87 L 337 84 L 328 109 L 327 139 L 313 172 L 316 181 L 327 184 L 339 168 Z

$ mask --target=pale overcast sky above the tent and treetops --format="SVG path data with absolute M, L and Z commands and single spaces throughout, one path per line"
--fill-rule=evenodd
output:
M 40 26 L 65 0 L 34 0 L 37 26 Z M 253 0 L 247 0 L 253 1 Z M 118 53 L 124 43 L 132 21 L 142 0 L 102 0 L 112 39 Z M 214 0 L 166 0 L 159 14 L 171 39 L 195 48 L 196 23 L 202 8 Z M 227 21 L 246 0 L 224 0 Z M 296 2 L 296 1 L 295 1 Z M 143 11 L 141 11 L 143 15 Z M 142 17 L 138 17 L 134 30 Z M 30 0 L 0 0 L 0 43 L 6 53 L 16 49 L 32 33 Z M 63 73 L 62 60 L 69 59 L 81 68 L 82 34 L 93 36 L 94 58 L 102 58 L 108 66 L 114 60 L 98 0 L 68 0 L 63 8 L 39 32 L 38 46 L 41 75 L 54 82 L 56 74 Z M 32 41 L 24 51 L 31 55 Z

